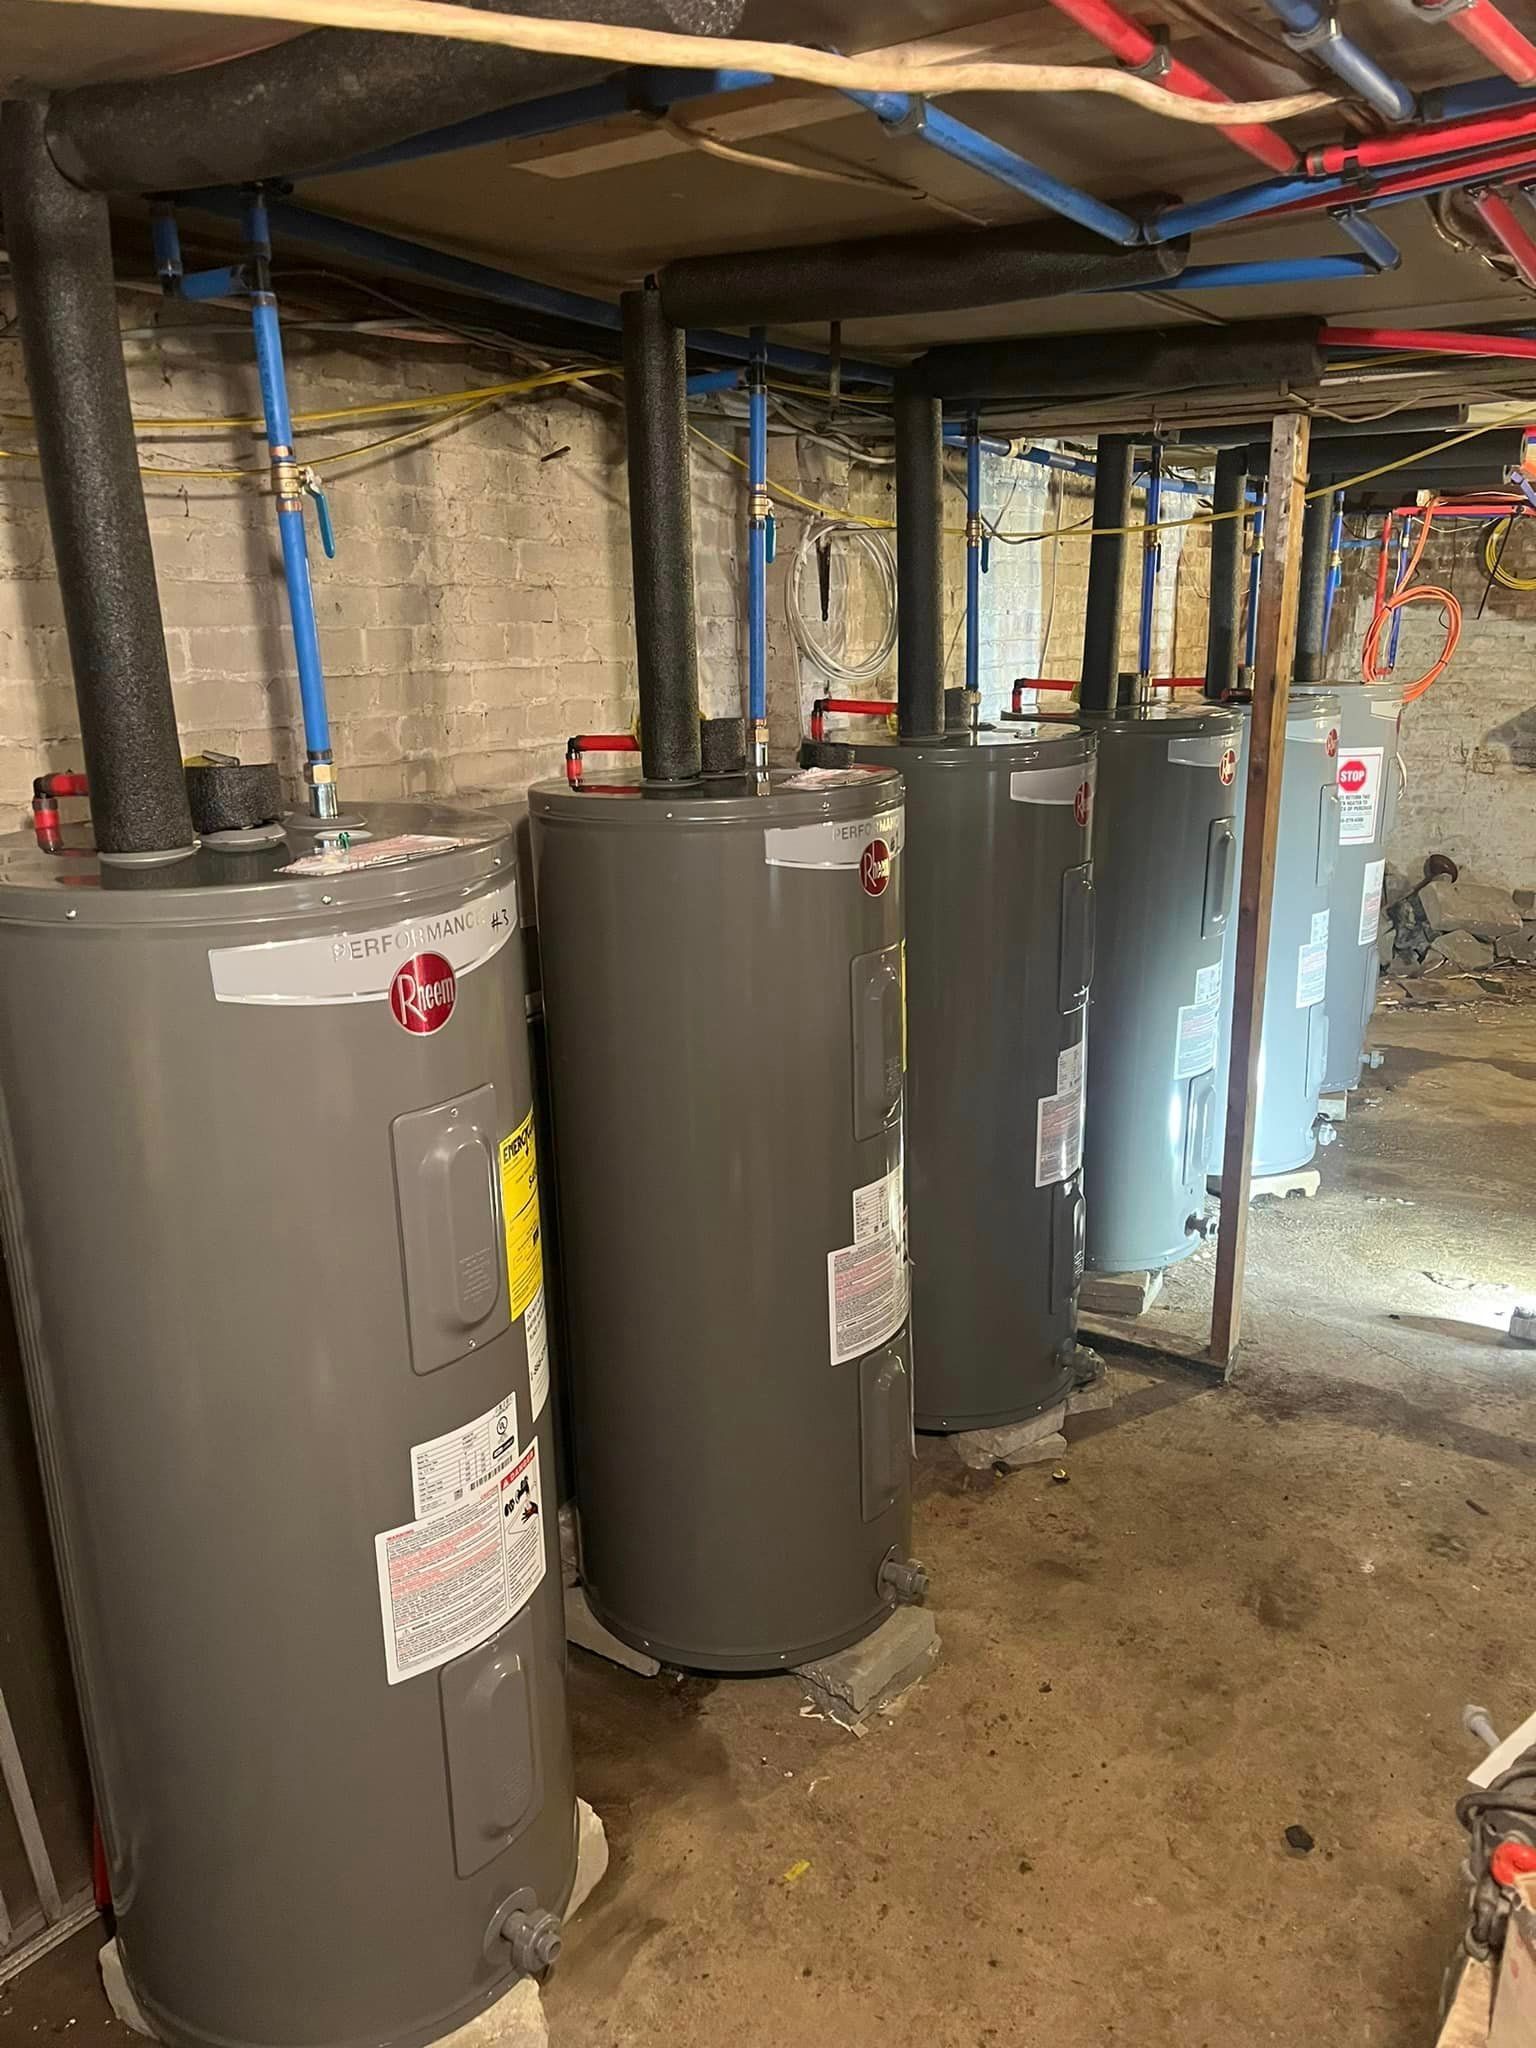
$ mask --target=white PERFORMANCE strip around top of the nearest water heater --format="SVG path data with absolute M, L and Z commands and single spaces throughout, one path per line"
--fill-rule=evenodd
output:
M 395 969 L 420 952 L 440 954 L 457 977 L 473 975 L 518 928 L 518 885 L 508 877 L 471 903 L 395 924 L 279 938 L 266 946 L 211 946 L 209 975 L 221 1004 L 381 1004 Z

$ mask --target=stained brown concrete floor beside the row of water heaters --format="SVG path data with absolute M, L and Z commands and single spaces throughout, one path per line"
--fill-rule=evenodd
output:
M 575 1653 L 614 1860 L 555 2048 L 1427 2048 L 1460 1708 L 1536 1706 L 1536 1350 L 1495 1327 L 1536 1300 L 1536 991 L 1376 1038 L 1323 1194 L 1253 1210 L 1235 1384 L 1118 1364 L 1065 1485 L 924 1446 L 944 1659 L 901 1712 Z M 0 2042 L 66 2030 L 127 2040 L 82 1944 L 0 1993 Z

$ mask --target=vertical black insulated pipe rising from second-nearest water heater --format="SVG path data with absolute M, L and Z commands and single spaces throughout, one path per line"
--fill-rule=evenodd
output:
M 623 293 L 618 305 L 625 315 L 641 772 L 647 782 L 696 782 L 702 752 L 686 348 L 653 285 Z

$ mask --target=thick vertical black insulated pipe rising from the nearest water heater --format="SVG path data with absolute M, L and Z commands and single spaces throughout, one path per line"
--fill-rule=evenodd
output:
M 96 848 L 193 844 L 160 592 L 117 324 L 106 201 L 47 152 L 47 111 L 0 115 L 0 199 L 63 594 Z

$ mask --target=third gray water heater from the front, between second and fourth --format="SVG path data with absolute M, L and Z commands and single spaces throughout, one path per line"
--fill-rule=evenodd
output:
M 1094 739 L 858 745 L 907 784 L 907 1208 L 920 1430 L 1071 1384 L 1083 1266 Z

